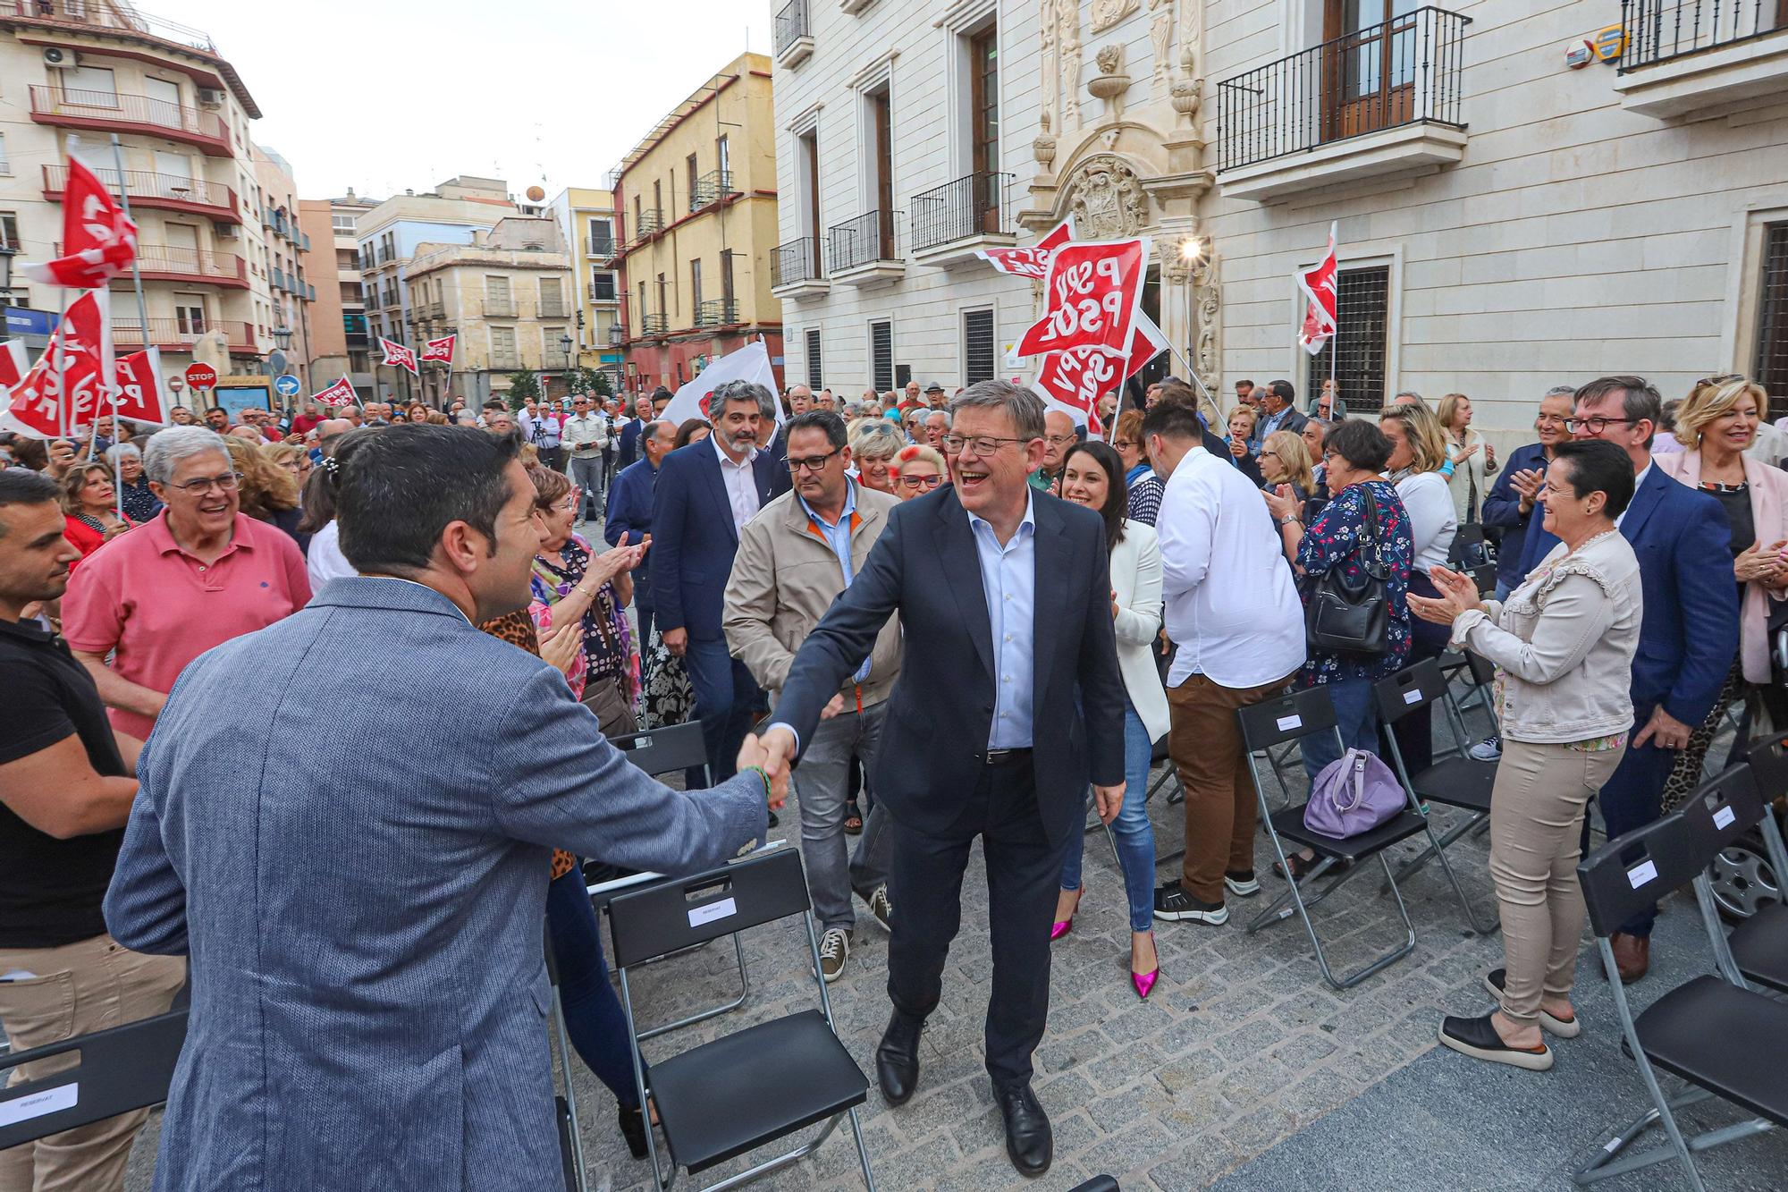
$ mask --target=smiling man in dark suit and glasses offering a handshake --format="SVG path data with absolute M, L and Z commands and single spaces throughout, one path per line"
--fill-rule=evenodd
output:
M 1050 1119 L 1030 1090 L 1050 1011 L 1050 924 L 1087 782 L 1100 814 L 1123 800 L 1123 680 L 1105 526 L 1030 489 L 1042 401 L 982 381 L 951 403 L 953 487 L 898 507 L 867 564 L 789 669 L 763 745 L 771 775 L 814 737 L 822 709 L 899 612 L 907 641 L 874 791 L 894 822 L 889 943 L 894 1017 L 876 1051 L 889 1104 L 919 1079 L 919 1031 L 942 993 L 969 845 L 982 838 L 992 927 L 987 1072 L 1007 1154 L 1050 1167 Z M 1078 700 L 1076 700 L 1078 687 Z

